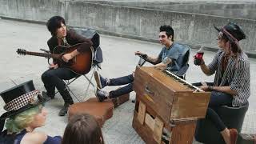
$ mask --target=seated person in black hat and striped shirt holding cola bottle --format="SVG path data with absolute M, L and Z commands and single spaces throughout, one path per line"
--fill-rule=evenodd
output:
M 226 144 L 234 144 L 238 131 L 228 129 L 213 107 L 242 106 L 250 96 L 250 62 L 239 46 L 239 41 L 245 39 L 246 34 L 234 22 L 214 28 L 218 30 L 218 47 L 221 50 L 218 50 L 208 66 L 203 59 L 200 63 L 204 74 L 215 74 L 214 82 L 198 82 L 194 86 L 211 91 L 206 118 L 214 123 Z

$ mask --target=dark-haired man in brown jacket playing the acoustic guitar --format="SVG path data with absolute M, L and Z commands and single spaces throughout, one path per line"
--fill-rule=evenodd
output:
M 83 38 L 82 36 L 76 34 L 73 30 L 67 30 L 64 18 L 54 16 L 48 20 L 46 26 L 52 35 L 47 42 L 51 54 L 54 54 L 54 51 L 59 49 L 58 46 L 66 46 L 66 49 L 68 49 L 69 46 L 80 43 L 77 49 L 62 55 L 60 58 L 62 62 L 69 62 L 78 54 L 88 52 L 91 53 L 91 46 L 93 43 L 90 41 L 90 39 Z M 46 94 L 50 98 L 54 98 L 55 96 L 55 87 L 62 95 L 65 103 L 58 115 L 64 116 L 67 113 L 68 107 L 74 102 L 62 79 L 68 80 L 77 77 L 78 74 L 69 68 L 60 66 L 59 61 L 60 60 L 54 58 L 53 63 L 50 64 L 50 69 L 46 70 L 42 74 L 42 82 L 46 88 Z

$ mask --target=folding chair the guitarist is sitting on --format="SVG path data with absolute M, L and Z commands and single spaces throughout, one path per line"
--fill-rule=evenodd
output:
M 77 34 L 85 37 L 85 38 L 90 38 L 90 40 L 93 42 L 93 47 L 94 47 L 94 54 L 93 54 L 93 63 L 91 66 L 90 70 L 93 70 L 90 78 L 88 78 L 86 76 L 86 74 L 82 74 L 82 75 L 78 75 L 78 77 L 76 78 L 72 78 L 70 80 L 64 80 L 64 82 L 66 83 L 66 87 L 67 89 L 70 91 L 71 94 L 74 95 L 75 98 L 77 98 L 77 100 L 79 102 L 81 102 L 78 97 L 73 93 L 72 90 L 70 90 L 69 85 L 74 82 L 75 80 L 77 80 L 78 78 L 80 78 L 80 76 L 83 76 L 84 78 L 86 78 L 86 80 L 89 82 L 88 86 L 86 87 L 86 94 L 89 90 L 90 85 L 94 87 L 95 90 L 95 86 L 94 83 L 91 81 L 94 75 L 94 71 L 97 69 L 101 69 L 101 63 L 103 62 L 103 57 L 102 57 L 102 49 L 99 46 L 100 44 L 100 37 L 99 34 L 97 33 L 96 30 L 92 30 L 92 29 L 82 29 L 82 28 L 72 28 L 70 30 L 74 30 Z M 85 95 L 86 95 L 85 94 Z

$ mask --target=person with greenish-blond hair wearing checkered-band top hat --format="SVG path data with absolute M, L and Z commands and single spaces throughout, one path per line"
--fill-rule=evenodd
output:
M 42 97 L 34 89 L 32 81 L 24 82 L 9 90 L 3 91 L 2 99 L 6 102 L 6 113 L 0 117 L 0 143 L 44 143 L 60 144 L 60 136 L 50 137 L 34 129 L 41 127 L 46 122 L 44 102 L 49 98 Z M 6 130 L 3 130 L 6 124 Z

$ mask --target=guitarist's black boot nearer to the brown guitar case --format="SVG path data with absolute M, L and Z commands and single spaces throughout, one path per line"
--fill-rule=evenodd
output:
M 62 109 L 59 111 L 58 115 L 59 116 L 64 116 L 67 113 L 67 110 L 69 109 L 69 106 L 72 105 L 73 99 L 67 89 L 59 91 L 59 93 L 62 95 L 62 98 L 64 99 L 64 106 Z

